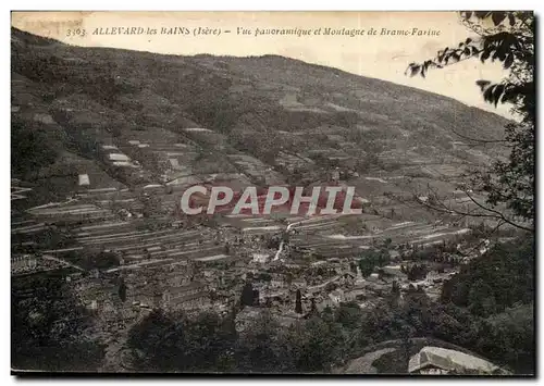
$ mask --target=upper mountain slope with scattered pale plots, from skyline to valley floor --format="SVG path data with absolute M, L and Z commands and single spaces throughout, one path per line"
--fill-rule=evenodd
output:
M 79 48 L 17 29 L 11 46 L 12 176 L 37 203 L 70 195 L 82 173 L 94 188 L 244 186 L 341 166 L 363 196 L 438 180 L 449 192 L 462 167 L 500 155 L 460 137 L 499 138 L 498 115 L 293 59 Z

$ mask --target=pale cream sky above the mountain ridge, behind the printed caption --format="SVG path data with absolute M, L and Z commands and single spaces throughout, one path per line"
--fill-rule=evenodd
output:
M 482 64 L 467 60 L 426 78 L 405 76 L 410 62 L 431 59 L 437 50 L 458 45 L 470 36 L 455 12 L 13 12 L 12 26 L 59 39 L 91 47 L 114 47 L 170 54 L 280 54 L 337 67 L 350 73 L 408 85 L 455 98 L 509 116 L 507 107 L 495 109 L 484 103 L 475 80 L 499 80 L 507 73 L 499 63 Z M 69 37 L 67 30 L 84 28 L 86 36 Z M 195 27 L 222 28 L 220 36 L 183 35 L 92 35 L 96 28 Z M 237 35 L 238 27 L 256 28 L 362 28 L 378 30 L 375 36 L 255 36 Z M 412 28 L 433 35 L 381 35 Z M 103 30 L 102 29 L 102 30 Z M 230 34 L 224 30 L 231 30 Z M 435 35 L 436 32 L 440 35 Z

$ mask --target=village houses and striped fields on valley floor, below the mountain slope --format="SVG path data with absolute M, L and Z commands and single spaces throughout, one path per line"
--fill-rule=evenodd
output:
M 139 195 L 89 185 L 89 176 L 79 175 L 78 190 L 65 202 L 29 208 L 25 220 L 12 220 L 12 275 L 62 270 L 82 302 L 106 323 L 103 331 L 115 334 L 153 309 L 190 314 L 245 307 L 237 315 L 243 329 L 259 310 L 288 325 L 342 303 L 370 307 L 394 288 L 400 299 L 409 290 L 437 299 L 442 283 L 462 262 L 455 253 L 458 242 L 470 233 L 436 223 L 384 222 L 368 213 L 188 215 L 161 185 Z M 15 191 L 20 200 L 22 188 Z M 108 199 L 112 194 L 115 199 Z M 359 224 L 363 228 L 354 235 Z M 48 235 L 44 241 L 41 233 Z M 426 260 L 411 260 L 416 250 L 430 248 Z M 424 272 L 412 274 L 418 264 Z M 242 296 L 248 288 L 249 303 Z

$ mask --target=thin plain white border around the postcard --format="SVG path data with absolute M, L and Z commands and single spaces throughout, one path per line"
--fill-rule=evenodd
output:
M 533 0 L 533 1 L 505 1 L 505 0 L 481 0 L 478 2 L 474 2 L 473 0 L 456 0 L 456 1 L 393 1 L 393 0 L 381 0 L 381 1 L 372 1 L 372 2 L 355 2 L 355 1 L 348 1 L 348 0 L 335 0 L 335 1 L 293 1 L 293 0 L 274 0 L 270 2 L 261 2 L 258 3 L 256 1 L 247 1 L 247 0 L 228 0 L 228 1 L 220 1 L 220 0 L 199 0 L 199 1 L 194 1 L 193 3 L 186 3 L 183 2 L 183 7 L 180 7 L 180 2 L 174 2 L 174 1 L 160 1 L 160 0 L 153 0 L 153 1 L 137 1 L 137 0 L 132 0 L 129 2 L 114 2 L 111 0 L 94 0 L 94 1 L 48 1 L 47 7 L 46 3 L 42 1 L 10 1 L 8 3 L 2 3 L 2 9 L 5 7 L 3 10 L 4 12 L 1 13 L 1 33 L 2 33 L 2 39 L 0 41 L 4 42 L 1 45 L 4 51 L 4 57 L 3 60 L 0 61 L 1 65 L 1 74 L 2 76 L 2 86 L 1 87 L 1 97 L 2 97 L 2 103 L 1 105 L 1 113 L 2 113 L 2 122 L 4 123 L 3 128 L 0 130 L 0 144 L 1 144 L 1 151 L 0 151 L 0 157 L 1 157 L 1 198 L 0 198 L 0 216 L 1 216 L 1 222 L 2 222 L 2 229 L 1 229 L 1 246 L 4 251 L 3 257 L 2 257 L 2 275 L 4 279 L 0 281 L 1 283 L 1 299 L 4 301 L 3 302 L 3 309 L 4 310 L 10 310 L 10 207 L 9 207 L 9 191 L 10 191 L 10 180 L 9 180 L 9 175 L 10 175 L 10 128 L 9 128 L 9 120 L 10 120 L 10 45 L 7 42 L 9 41 L 10 38 L 10 10 L 177 10 L 177 11 L 239 11 L 239 10 L 245 10 L 245 11 L 258 11 L 258 10 L 293 10 L 293 11 L 305 11 L 305 10 L 326 10 L 326 11 L 338 11 L 338 10 L 357 10 L 357 11 L 386 11 L 386 10 L 399 10 L 399 11 L 426 11 L 426 10 L 461 10 L 461 9 L 467 9 L 467 10 L 497 10 L 497 9 L 519 9 L 519 10 L 535 10 L 539 15 L 542 15 L 542 0 Z M 5 5 L 4 5 L 5 4 Z M 541 28 L 542 29 L 542 25 Z M 540 36 L 539 36 L 540 37 Z M 540 41 L 540 39 L 539 39 Z M 540 48 L 540 47 L 539 47 Z M 539 63 L 542 63 L 542 57 L 539 52 Z M 540 90 L 539 90 L 540 91 Z M 540 92 L 539 92 L 540 94 Z M 539 127 L 541 126 L 541 122 L 539 120 Z M 542 132 L 542 130 L 541 130 Z M 539 134 L 539 137 L 542 137 L 542 133 Z M 542 138 L 541 138 L 542 140 Z M 542 157 L 537 157 L 537 166 L 539 171 L 542 173 L 544 170 L 544 165 L 542 162 Z M 541 174 L 539 173 L 539 174 Z M 539 175 L 540 177 L 540 175 Z M 539 182 L 541 178 L 539 178 Z M 537 191 L 542 192 L 542 185 L 539 183 Z M 539 197 L 540 198 L 540 197 Z M 540 206 L 541 207 L 541 206 Z M 540 208 L 539 208 L 540 209 Z M 539 210 L 539 219 L 540 219 L 540 213 L 541 211 Z M 542 236 L 541 233 L 542 227 L 539 227 L 539 236 Z M 542 237 L 539 237 L 540 240 L 543 240 Z M 539 244 L 539 257 L 542 257 L 542 253 L 540 253 L 542 250 L 542 241 Z M 539 261 L 539 259 L 537 259 Z M 542 275 L 542 266 L 544 264 L 541 262 L 539 264 L 539 272 L 537 272 L 537 277 L 543 277 Z M 537 299 L 542 299 L 542 291 L 541 291 L 541 286 L 539 286 L 539 297 Z M 540 311 L 540 302 L 537 304 L 537 309 Z M 9 311 L 8 311 L 9 312 Z M 540 313 L 539 313 L 540 314 Z M 539 317 L 540 320 L 540 317 Z M 1 344 L 1 363 L 2 363 L 2 384 L 4 384 L 5 381 L 10 384 L 15 383 L 15 378 L 9 375 L 10 372 L 10 317 L 5 315 L 1 320 L 2 324 L 2 340 L 0 341 Z M 539 336 L 539 348 L 542 348 L 542 333 L 537 332 L 536 333 Z M 541 358 L 539 358 L 539 364 L 542 363 Z M 541 365 L 539 365 L 539 369 L 542 369 Z M 60 379 L 55 379 L 60 381 Z M 83 379 L 82 379 L 83 381 Z M 166 381 L 168 379 L 161 379 L 161 381 Z M 172 379 L 174 381 L 174 379 Z M 171 381 L 171 382 L 172 382 Z M 252 379 L 252 378 L 238 378 L 238 379 L 231 379 L 228 381 L 230 383 L 233 382 L 250 382 L 250 383 L 256 383 L 256 382 L 281 382 L 282 384 L 285 385 L 302 385 L 302 384 L 310 384 L 314 381 L 320 381 L 318 378 L 299 378 L 299 379 L 284 379 L 284 378 L 270 378 L 268 381 L 264 379 Z M 356 381 L 357 383 L 359 382 L 364 382 L 366 384 L 378 384 L 378 383 L 397 383 L 397 382 L 408 382 L 408 381 L 401 381 L 401 379 L 384 379 L 384 381 L 379 381 L 379 379 L 366 379 L 366 378 L 360 378 L 360 379 L 342 379 L 342 378 L 324 378 L 321 379 L 320 382 L 326 382 L 327 384 L 343 384 L 345 382 L 349 381 Z M 434 382 L 437 379 L 431 379 L 431 382 Z M 496 379 L 486 379 L 486 381 L 478 381 L 478 383 L 491 383 L 495 382 Z M 47 381 L 39 381 L 35 382 L 34 384 L 40 385 L 40 384 L 48 384 L 46 383 Z M 75 382 L 74 379 L 64 379 L 61 382 Z M 89 382 L 89 381 L 87 381 Z M 127 379 L 95 379 L 90 381 L 91 384 L 96 385 L 116 385 L 119 382 L 137 382 L 138 384 L 156 384 L 157 381 L 153 379 L 137 379 L 137 378 L 127 378 Z M 189 379 L 177 379 L 174 382 L 183 382 L 184 384 L 191 384 L 195 382 L 199 382 L 202 384 L 211 384 L 212 381 L 210 379 L 201 379 L 201 381 L 189 381 Z M 213 383 L 215 382 L 225 382 L 224 379 L 214 379 Z M 452 381 L 444 381 L 447 383 L 450 383 Z M 477 381 L 468 381 L 466 382 L 469 383 L 475 383 Z M 502 384 L 512 384 L 512 381 L 500 381 Z

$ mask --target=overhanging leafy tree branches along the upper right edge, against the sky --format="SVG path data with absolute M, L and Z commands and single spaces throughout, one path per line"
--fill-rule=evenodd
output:
M 456 47 L 440 50 L 435 58 L 423 63 L 410 63 L 407 74 L 425 77 L 430 69 L 444 69 L 457 62 L 479 59 L 482 63 L 498 61 L 509 75 L 500 83 L 477 82 L 485 101 L 508 103 L 519 122 L 506 126 L 505 137 L 497 140 L 468 139 L 472 144 L 502 144 L 510 149 L 507 162 L 497 160 L 490 170 L 478 171 L 466 188 L 480 212 L 498 221 L 497 226 L 510 224 L 534 232 L 534 140 L 535 140 L 535 87 L 534 87 L 534 30 L 535 18 L 529 11 L 460 12 L 462 23 L 475 36 Z M 485 202 L 477 200 L 470 190 L 487 194 Z M 507 211 L 498 209 L 506 204 Z M 434 208 L 452 211 L 452 208 Z M 456 211 L 459 212 L 459 211 Z M 462 214 L 462 213 L 459 213 Z M 474 215 L 474 213 L 463 213 Z

